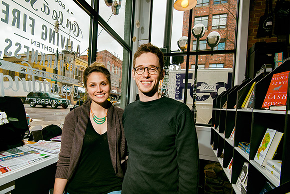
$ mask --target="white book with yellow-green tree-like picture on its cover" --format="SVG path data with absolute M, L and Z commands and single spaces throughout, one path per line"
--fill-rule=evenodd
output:
M 277 150 L 277 147 L 282 139 L 283 133 L 274 129 L 267 129 L 262 142 L 258 148 L 258 151 L 254 157 L 261 166 L 266 166 L 268 159 L 273 159 L 273 156 Z

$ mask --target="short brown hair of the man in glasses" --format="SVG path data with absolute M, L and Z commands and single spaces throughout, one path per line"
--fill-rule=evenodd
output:
M 138 50 L 134 54 L 134 61 L 133 61 L 134 67 L 136 65 L 136 58 L 140 57 L 143 53 L 155 54 L 159 58 L 160 67 L 161 68 L 164 67 L 164 55 L 163 55 L 162 51 L 158 47 L 152 45 L 151 43 L 142 44 L 138 48 Z

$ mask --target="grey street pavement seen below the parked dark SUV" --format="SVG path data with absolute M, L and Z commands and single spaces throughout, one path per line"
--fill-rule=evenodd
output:
M 61 106 L 54 109 L 51 106 L 43 108 L 40 105 L 32 108 L 29 104 L 24 104 L 26 112 L 30 115 L 33 121 L 30 123 L 32 129 L 34 126 L 41 125 L 43 128 L 47 125 L 60 125 L 64 123 L 65 116 L 69 113 L 70 105 L 68 108 L 64 109 Z

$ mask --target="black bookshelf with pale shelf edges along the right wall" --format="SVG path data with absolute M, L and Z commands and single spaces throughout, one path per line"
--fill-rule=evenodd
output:
M 285 61 L 272 72 L 265 72 L 252 80 L 244 81 L 213 100 L 210 144 L 217 158 L 220 157 L 222 151 L 224 152 L 221 165 L 232 184 L 232 193 L 241 193 L 236 182 L 244 162 L 249 163 L 247 193 L 259 193 L 266 181 L 271 182 L 276 187 L 290 181 L 290 167 L 287 165 L 290 162 L 290 152 L 286 149 L 290 147 L 290 137 L 287 133 L 288 128 L 290 128 L 289 106 L 287 106 L 286 111 L 271 111 L 261 108 L 273 74 L 289 70 L 290 61 Z M 253 109 L 242 109 L 241 105 L 253 82 L 256 82 Z M 227 102 L 226 109 L 222 108 L 225 101 Z M 290 104 L 289 95 L 287 95 L 287 104 Z M 234 108 L 235 105 L 236 108 Z M 234 127 L 235 135 L 232 141 L 229 136 Z M 282 160 L 282 164 L 284 164 L 280 180 L 273 177 L 264 167 L 254 161 L 267 128 L 284 133 L 274 158 Z M 249 154 L 238 147 L 239 142 L 250 142 Z M 229 174 L 226 168 L 231 158 L 233 158 L 232 172 Z M 219 159 L 219 161 L 221 160 Z

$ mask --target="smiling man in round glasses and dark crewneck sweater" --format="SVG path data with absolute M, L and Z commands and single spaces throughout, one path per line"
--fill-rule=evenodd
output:
M 186 104 L 158 93 L 165 74 L 163 53 L 143 44 L 133 63 L 140 100 L 129 104 L 123 115 L 129 159 L 122 193 L 197 193 L 194 119 Z

